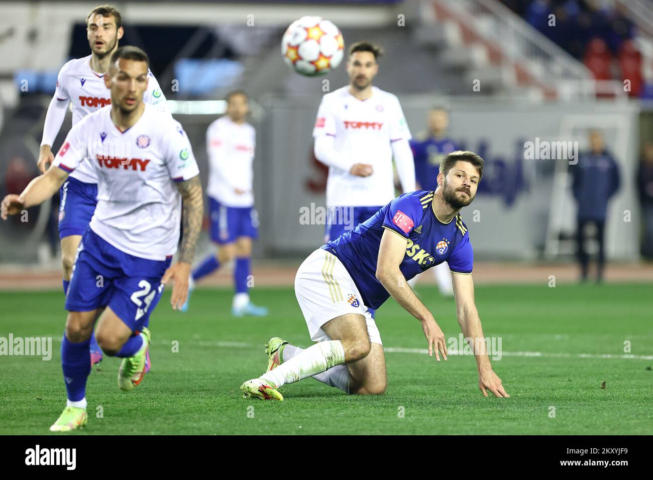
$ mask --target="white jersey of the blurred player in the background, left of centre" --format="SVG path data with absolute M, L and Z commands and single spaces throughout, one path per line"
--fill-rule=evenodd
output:
M 206 194 L 233 207 L 254 205 L 253 168 L 256 131 L 249 123 L 234 123 L 228 116 L 206 130 L 209 178 Z M 236 193 L 236 189 L 244 193 Z

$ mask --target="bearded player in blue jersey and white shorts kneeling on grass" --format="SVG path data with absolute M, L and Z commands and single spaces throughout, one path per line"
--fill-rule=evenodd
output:
M 475 353 L 479 389 L 509 396 L 485 353 L 474 303 L 473 254 L 458 213 L 476 195 L 483 159 L 452 152 L 440 164 L 435 191 L 404 193 L 373 217 L 315 250 L 295 278 L 311 340 L 307 349 L 281 338 L 266 344 L 268 371 L 240 388 L 246 397 L 283 400 L 279 387 L 313 377 L 350 394 L 381 394 L 387 387 L 379 329 L 369 309 L 391 295 L 422 324 L 428 353 L 447 360 L 445 336 L 407 280 L 446 261 L 453 272 L 458 323 Z

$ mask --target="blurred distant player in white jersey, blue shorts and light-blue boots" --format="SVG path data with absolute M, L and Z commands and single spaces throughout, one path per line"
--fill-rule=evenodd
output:
M 263 317 L 268 309 L 249 299 L 251 244 L 259 236 L 259 214 L 254 208 L 253 167 L 256 131 L 246 122 L 249 113 L 244 91 L 227 95 L 227 114 L 213 121 L 206 131 L 209 180 L 206 193 L 211 216 L 211 240 L 217 255 L 210 255 L 193 271 L 189 296 L 182 307 L 187 312 L 190 293 L 196 280 L 211 274 L 221 265 L 236 259 L 236 293 L 231 313 L 236 317 Z

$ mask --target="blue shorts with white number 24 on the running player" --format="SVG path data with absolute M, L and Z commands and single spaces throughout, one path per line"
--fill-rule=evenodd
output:
M 77 249 L 66 310 L 89 312 L 109 306 L 133 332 L 148 325 L 172 257 L 148 260 L 112 246 L 90 228 Z

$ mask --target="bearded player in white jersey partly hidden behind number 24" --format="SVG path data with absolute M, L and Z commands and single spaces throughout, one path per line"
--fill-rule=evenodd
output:
M 72 103 L 72 125 L 84 116 L 111 103 L 110 91 L 104 85 L 110 58 L 118 49 L 118 40 L 123 37 L 122 17 L 111 5 L 93 8 L 86 17 L 86 33 L 91 54 L 68 61 L 57 76 L 57 89 L 48 106 L 43 137 L 39 152 L 39 170 L 45 173 L 54 161 L 52 144 L 61 129 L 68 105 Z M 159 83 L 148 70 L 148 88 L 144 101 L 156 104 L 158 110 L 167 112 L 165 96 Z M 61 261 L 63 264 L 63 293 L 68 291 L 72 265 L 82 235 L 97 205 L 97 175 L 84 162 L 71 172 L 59 191 L 59 238 L 61 239 Z M 91 334 L 91 362 L 102 360 L 95 334 Z M 147 370 L 150 369 L 148 358 Z

